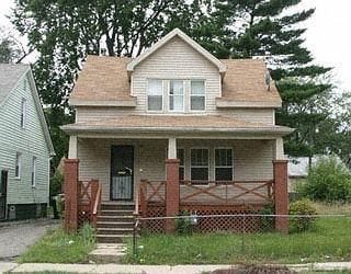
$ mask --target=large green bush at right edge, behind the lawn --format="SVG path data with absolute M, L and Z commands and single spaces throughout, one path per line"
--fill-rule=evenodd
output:
M 336 157 L 322 158 L 309 170 L 307 181 L 299 193 L 313 201 L 351 201 L 351 175 Z

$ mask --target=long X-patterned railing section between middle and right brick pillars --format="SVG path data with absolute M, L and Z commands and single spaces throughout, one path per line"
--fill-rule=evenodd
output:
M 183 181 L 180 185 L 180 204 L 262 204 L 273 197 L 273 181 Z

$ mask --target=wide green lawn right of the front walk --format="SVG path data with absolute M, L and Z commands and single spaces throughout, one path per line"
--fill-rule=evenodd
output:
M 154 235 L 132 243 L 124 262 L 145 264 L 307 263 L 351 260 L 351 218 L 318 219 L 303 233 Z

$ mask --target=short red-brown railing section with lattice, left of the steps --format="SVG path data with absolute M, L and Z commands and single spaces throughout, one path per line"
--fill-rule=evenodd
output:
M 101 204 L 101 184 L 98 180 L 78 182 L 78 227 L 90 222 L 95 227 Z

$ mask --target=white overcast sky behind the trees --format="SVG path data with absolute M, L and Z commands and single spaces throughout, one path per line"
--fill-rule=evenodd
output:
M 11 26 L 5 14 L 13 0 L 0 0 L 0 25 Z M 316 8 L 304 26 L 305 46 L 317 65 L 333 67 L 339 91 L 351 92 L 351 0 L 303 0 L 301 9 Z

